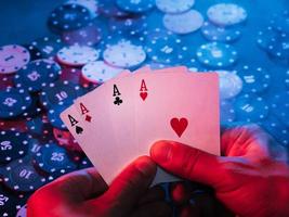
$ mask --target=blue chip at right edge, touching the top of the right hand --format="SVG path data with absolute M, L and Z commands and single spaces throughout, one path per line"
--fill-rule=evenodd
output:
M 289 144 L 289 130 L 275 115 L 270 115 L 261 126 L 279 143 Z

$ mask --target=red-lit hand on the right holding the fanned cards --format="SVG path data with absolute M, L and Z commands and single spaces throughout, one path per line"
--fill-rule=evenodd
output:
M 150 155 L 168 171 L 211 186 L 216 197 L 239 216 L 289 216 L 286 151 L 276 145 L 273 150 L 270 142 L 252 125 L 224 130 L 221 146 L 225 156 L 172 141 L 155 143 Z

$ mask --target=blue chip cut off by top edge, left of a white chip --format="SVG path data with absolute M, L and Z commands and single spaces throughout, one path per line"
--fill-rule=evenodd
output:
M 116 3 L 119 9 L 129 13 L 144 13 L 156 5 L 155 0 L 116 0 Z

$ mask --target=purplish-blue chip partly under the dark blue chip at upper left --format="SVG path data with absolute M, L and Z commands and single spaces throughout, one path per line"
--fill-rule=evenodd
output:
M 77 30 L 65 31 L 62 38 L 69 46 L 95 46 L 102 39 L 101 33 L 98 27 L 91 24 Z

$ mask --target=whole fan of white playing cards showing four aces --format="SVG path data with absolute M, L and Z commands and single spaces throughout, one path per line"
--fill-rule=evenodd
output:
M 61 115 L 108 184 L 137 156 L 149 155 L 157 140 L 220 154 L 216 75 L 187 74 L 186 67 L 149 72 L 148 67 L 124 72 L 77 99 Z M 76 133 L 68 114 L 82 133 Z M 158 169 L 154 183 L 175 180 Z

